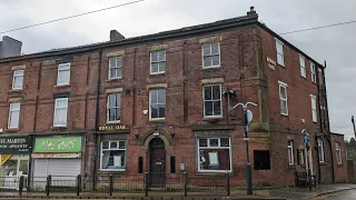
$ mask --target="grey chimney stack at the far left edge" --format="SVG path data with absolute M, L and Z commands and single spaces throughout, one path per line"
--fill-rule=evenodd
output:
M 0 41 L 0 59 L 21 56 L 22 42 L 10 37 L 2 37 Z

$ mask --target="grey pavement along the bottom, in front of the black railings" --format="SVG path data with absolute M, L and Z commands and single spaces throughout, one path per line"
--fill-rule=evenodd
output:
M 340 198 L 335 193 L 340 193 Z M 194 193 L 182 197 L 181 192 L 149 191 L 148 197 L 142 193 L 113 193 L 111 197 L 107 193 L 75 193 L 52 192 L 49 197 L 44 192 L 23 192 L 22 197 L 18 192 L 0 192 L 0 200 L 3 199 L 135 199 L 135 200 L 295 200 L 312 199 L 324 200 L 356 200 L 356 184 L 336 183 L 318 184 L 309 191 L 308 188 L 285 188 L 275 190 L 254 190 L 253 196 L 247 196 L 246 190 L 231 189 L 230 197 L 226 193 Z M 334 198 L 334 199 L 333 199 Z

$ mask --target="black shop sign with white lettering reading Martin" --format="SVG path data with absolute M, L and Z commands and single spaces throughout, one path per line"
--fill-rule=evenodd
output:
M 24 137 L 0 137 L 0 154 L 26 154 L 30 153 L 31 138 Z

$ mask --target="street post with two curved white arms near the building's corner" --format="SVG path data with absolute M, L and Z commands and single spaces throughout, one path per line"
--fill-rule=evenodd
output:
M 247 137 L 248 133 L 248 123 L 253 119 L 251 112 L 247 109 L 248 104 L 257 106 L 256 103 L 253 102 L 247 102 L 247 103 L 237 103 L 233 109 L 235 109 L 238 106 L 243 107 L 244 110 L 244 127 L 245 127 L 245 134 L 244 134 L 244 140 L 246 142 L 246 182 L 247 182 L 247 194 L 251 196 L 253 194 L 253 169 L 251 169 L 251 163 L 249 162 L 249 150 L 248 150 L 248 140 L 249 138 Z M 248 113 L 249 111 L 249 113 Z

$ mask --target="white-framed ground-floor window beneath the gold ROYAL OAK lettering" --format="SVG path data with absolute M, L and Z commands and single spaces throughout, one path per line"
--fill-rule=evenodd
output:
M 126 169 L 126 141 L 101 141 L 100 169 L 125 171 Z

